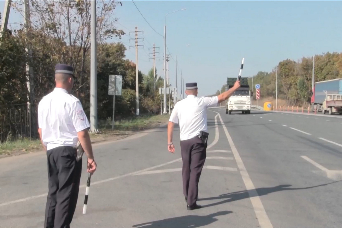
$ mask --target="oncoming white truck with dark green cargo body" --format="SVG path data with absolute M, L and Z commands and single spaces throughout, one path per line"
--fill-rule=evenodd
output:
M 231 115 L 233 111 L 241 111 L 242 114 L 250 114 L 251 113 L 251 99 L 252 92 L 249 90 L 248 78 L 241 78 L 241 86 L 238 90 L 236 90 L 231 97 L 227 100 L 226 106 L 226 114 Z M 232 88 L 234 83 L 236 82 L 236 78 L 228 78 L 227 86 L 228 89 Z

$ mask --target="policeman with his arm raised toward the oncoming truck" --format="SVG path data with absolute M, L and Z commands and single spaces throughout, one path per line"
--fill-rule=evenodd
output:
M 197 83 L 186 83 L 187 97 L 177 102 L 168 124 L 168 150 L 174 153 L 172 143 L 174 124 L 179 124 L 181 153 L 183 160 L 183 194 L 187 210 L 201 208 L 198 205 L 198 182 L 207 156 L 207 108 L 216 107 L 227 100 L 240 87 L 240 81 L 233 88 L 214 97 L 197 97 Z

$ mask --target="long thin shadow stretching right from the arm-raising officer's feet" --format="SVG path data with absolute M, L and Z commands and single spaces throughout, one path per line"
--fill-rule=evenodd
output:
M 321 185 L 304 187 L 304 188 L 290 188 L 290 186 L 292 186 L 292 185 L 278 185 L 278 186 L 275 186 L 275 187 L 256 188 L 254 190 L 256 190 L 258 192 L 259 196 L 264 196 L 264 195 L 268 195 L 269 193 L 273 193 L 273 192 L 277 192 L 277 191 L 310 189 L 310 188 L 316 188 L 316 187 L 330 185 L 330 184 L 333 184 L 333 183 L 336 183 L 336 182 L 340 182 L 340 180 L 339 181 L 330 182 L 330 183 L 327 183 L 327 184 L 321 184 Z M 220 204 L 223 204 L 223 203 L 233 202 L 233 201 L 236 201 L 236 200 L 242 200 L 242 199 L 247 199 L 247 198 L 249 198 L 248 191 L 244 190 L 244 191 L 236 191 L 236 192 L 222 194 L 222 195 L 217 196 L 217 197 L 201 198 L 201 199 L 198 199 L 197 201 L 201 201 L 201 200 L 222 200 L 222 199 L 225 199 L 225 200 L 220 201 L 220 202 L 210 203 L 210 204 L 207 204 L 207 205 L 202 205 L 202 207 L 204 208 L 204 207 L 216 206 L 216 205 L 220 205 Z

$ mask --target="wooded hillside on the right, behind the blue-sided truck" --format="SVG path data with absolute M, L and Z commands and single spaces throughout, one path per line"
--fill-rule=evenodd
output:
M 312 57 L 299 61 L 286 59 L 278 64 L 278 99 L 285 100 L 289 106 L 310 104 L 312 91 Z M 342 78 L 342 53 L 323 53 L 314 56 L 315 82 Z M 260 84 L 261 98 L 276 98 L 276 66 L 271 72 L 258 72 L 253 77 L 253 86 Z M 248 83 L 252 88 L 252 77 Z M 221 91 L 225 90 L 223 85 Z M 255 88 L 253 88 L 255 100 Z M 220 90 L 216 91 L 220 94 Z M 259 104 L 260 105 L 260 104 Z

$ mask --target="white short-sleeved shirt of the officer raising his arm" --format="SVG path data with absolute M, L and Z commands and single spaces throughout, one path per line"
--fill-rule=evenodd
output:
M 196 97 L 188 95 L 177 102 L 171 112 L 169 121 L 179 123 L 180 139 L 187 140 L 208 131 L 207 108 L 216 107 L 218 97 Z

